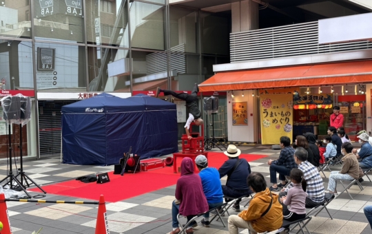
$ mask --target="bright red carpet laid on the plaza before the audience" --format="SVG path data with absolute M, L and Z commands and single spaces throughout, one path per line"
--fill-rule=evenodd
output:
M 248 162 L 265 158 L 264 155 L 241 154 L 239 158 L 245 158 Z M 219 168 L 227 156 L 220 152 L 209 152 L 209 167 Z M 177 163 L 180 165 L 180 162 Z M 173 167 L 164 167 L 152 171 L 141 171 L 140 173 L 125 173 L 125 175 L 114 175 L 109 173 L 110 182 L 105 184 L 83 183 L 79 180 L 70 180 L 42 187 L 47 193 L 57 195 L 68 195 L 76 198 L 99 200 L 101 194 L 105 195 L 105 201 L 118 202 L 132 198 L 144 193 L 150 193 L 158 189 L 176 184 L 180 173 L 173 173 Z M 39 192 L 38 188 L 30 191 Z

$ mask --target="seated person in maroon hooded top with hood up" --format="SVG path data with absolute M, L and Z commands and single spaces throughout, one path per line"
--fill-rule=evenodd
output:
M 208 203 L 203 192 L 200 176 L 194 173 L 194 163 L 191 158 L 183 158 L 181 162 L 181 175 L 176 184 L 176 200 L 172 203 L 171 234 L 180 233 L 177 215 L 187 217 L 187 221 L 194 216 L 208 211 Z M 187 227 L 186 233 L 194 233 L 192 224 Z

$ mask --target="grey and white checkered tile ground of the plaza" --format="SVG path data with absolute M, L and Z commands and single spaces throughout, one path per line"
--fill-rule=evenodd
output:
M 267 160 L 276 159 L 279 151 L 271 150 L 265 146 L 239 147 L 242 153 L 263 154 L 267 158 L 262 158 L 251 162 L 252 171 L 257 171 L 266 176 L 269 184 L 269 167 Z M 220 151 L 212 149 L 212 151 Z M 0 166 L 0 173 L 6 176 L 7 165 Z M 340 170 L 340 166 L 332 168 Z M 83 175 L 112 171 L 110 167 L 94 167 L 61 164 L 59 157 L 42 158 L 41 160 L 28 160 L 24 162 L 24 171 L 38 184 L 52 184 L 72 180 Z M 13 171 L 14 166 L 13 166 Z M 327 177 L 329 171 L 325 172 Z M 328 179 L 324 178 L 324 187 L 327 189 Z M 226 178 L 221 182 L 225 184 Z M 349 191 L 354 196 L 354 200 L 349 198 L 347 193 L 340 195 L 340 198 L 333 200 L 329 206 L 329 211 L 333 220 L 329 218 L 326 211 L 322 211 L 317 217 L 309 222 L 307 228 L 311 233 L 372 233 L 363 207 L 372 204 L 372 182 L 364 178 L 362 182 L 363 191 L 357 186 L 351 187 Z M 342 186 L 338 184 L 338 191 Z M 110 233 L 169 233 L 172 231 L 171 207 L 174 200 L 175 186 L 159 189 L 152 193 L 145 193 L 134 198 L 120 202 L 107 203 L 107 218 L 109 220 Z M 39 193 L 30 193 L 37 195 Z M 81 198 L 66 197 L 61 195 L 46 194 L 44 200 L 66 200 L 74 201 Z M 243 206 L 245 202 L 241 203 Z M 78 204 L 50 204 L 50 203 L 23 203 L 7 202 L 10 223 L 14 234 L 32 233 L 43 227 L 41 233 L 94 233 L 96 225 L 96 205 Z M 242 207 L 241 207 L 242 208 Z M 230 210 L 230 214 L 236 214 Z M 223 217 L 227 224 L 227 217 Z M 194 228 L 194 233 L 228 233 L 228 228 L 223 227 L 221 222 L 212 222 L 209 228 L 201 226 Z M 248 233 L 247 230 L 240 230 L 240 233 Z M 295 233 L 295 232 L 293 232 Z

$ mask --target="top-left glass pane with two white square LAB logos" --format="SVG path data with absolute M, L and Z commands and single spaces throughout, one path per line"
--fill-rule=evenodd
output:
M 83 1 L 34 1 L 34 32 L 37 40 L 62 39 L 83 43 L 83 18 Z

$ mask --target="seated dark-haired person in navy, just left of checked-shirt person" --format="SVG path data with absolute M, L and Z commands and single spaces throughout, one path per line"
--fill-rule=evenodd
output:
M 269 160 L 267 164 L 270 166 L 270 182 L 273 184 L 269 189 L 270 191 L 278 191 L 278 187 L 285 187 L 285 175 L 291 173 L 291 169 L 297 168 L 293 160 L 294 149 L 291 147 L 291 140 L 287 136 L 280 138 L 280 155 L 278 160 Z M 279 173 L 279 180 L 282 182 L 277 184 L 276 173 Z

